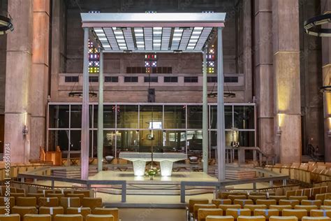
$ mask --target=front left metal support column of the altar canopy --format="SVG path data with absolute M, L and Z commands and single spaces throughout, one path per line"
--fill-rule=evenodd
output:
M 82 88 L 82 135 L 80 147 L 80 178 L 89 178 L 89 28 L 84 28 L 84 64 Z

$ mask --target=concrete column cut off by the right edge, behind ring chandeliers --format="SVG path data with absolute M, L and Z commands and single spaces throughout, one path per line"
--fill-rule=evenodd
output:
M 325 4 L 325 1 L 327 3 Z M 322 13 L 331 11 L 331 2 L 321 1 Z M 325 6 L 325 9 L 324 9 Z M 331 24 L 324 24 L 323 28 L 331 29 Z M 322 38 L 322 68 L 323 85 L 331 85 L 331 38 Z M 324 109 L 324 157 L 326 162 L 331 162 L 331 93 L 323 94 Z

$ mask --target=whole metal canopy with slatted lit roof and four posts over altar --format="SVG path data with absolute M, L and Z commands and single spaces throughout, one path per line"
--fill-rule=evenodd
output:
M 223 98 L 222 34 L 226 13 L 81 13 L 84 29 L 84 68 L 82 97 L 81 178 L 89 175 L 89 53 L 90 41 L 101 49 L 100 77 L 104 52 L 202 52 L 203 106 L 207 106 L 206 46 L 217 35 L 217 159 L 219 181 L 225 180 L 226 142 Z M 103 81 L 99 83 L 98 171 L 103 160 Z M 203 108 L 203 131 L 208 113 Z M 208 166 L 208 134 L 203 132 L 203 171 Z

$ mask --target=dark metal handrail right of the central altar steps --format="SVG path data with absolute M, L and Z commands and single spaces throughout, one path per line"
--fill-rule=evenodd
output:
M 289 176 L 269 176 L 262 178 L 252 178 L 252 179 L 242 179 L 242 180 L 225 180 L 221 182 L 203 182 L 203 181 L 182 181 L 180 182 L 180 201 L 181 203 L 185 203 L 185 190 L 186 186 L 204 186 L 204 187 L 216 187 L 221 188 L 227 185 L 240 185 L 253 183 L 253 190 L 256 190 L 256 183 L 269 182 L 272 187 L 273 182 L 275 180 L 283 180 L 283 185 L 286 185 L 286 180 L 288 180 Z

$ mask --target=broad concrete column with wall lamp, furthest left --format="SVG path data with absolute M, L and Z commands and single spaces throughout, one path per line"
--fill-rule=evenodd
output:
M 15 17 L 15 31 L 7 35 L 5 143 L 10 143 L 11 162 L 29 162 L 29 80 L 31 78 L 33 0 L 8 1 L 8 11 Z

